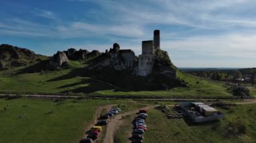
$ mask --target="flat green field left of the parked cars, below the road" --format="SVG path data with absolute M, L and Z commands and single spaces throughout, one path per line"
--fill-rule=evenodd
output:
M 0 99 L 0 142 L 78 142 L 96 108 L 106 103 L 109 102 Z

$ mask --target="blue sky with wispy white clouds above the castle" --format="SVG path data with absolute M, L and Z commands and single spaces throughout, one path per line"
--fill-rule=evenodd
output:
M 256 67 L 255 0 L 1 0 L 0 44 L 51 56 L 117 42 L 160 48 L 179 67 Z

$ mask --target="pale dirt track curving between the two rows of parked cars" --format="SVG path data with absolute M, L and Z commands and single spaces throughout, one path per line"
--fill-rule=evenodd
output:
M 148 107 L 143 107 L 141 109 L 150 109 L 152 107 L 156 107 L 158 105 L 150 105 Z M 106 129 L 106 136 L 104 138 L 104 143 L 113 143 L 114 142 L 114 135 L 117 132 L 119 126 L 123 124 L 123 120 L 121 119 L 122 116 L 126 116 L 132 113 L 137 113 L 140 109 L 135 109 L 133 111 L 127 111 L 125 113 L 117 114 L 115 117 L 108 123 Z

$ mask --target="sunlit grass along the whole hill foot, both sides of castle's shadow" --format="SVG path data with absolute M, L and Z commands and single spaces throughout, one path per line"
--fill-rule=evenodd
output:
M 69 69 L 17 74 L 24 67 L 0 71 L 0 93 L 18 94 L 69 94 L 162 97 L 232 97 L 223 83 L 205 81 L 179 71 L 178 77 L 189 87 L 177 87 L 165 91 L 117 91 L 114 87 L 95 79 L 79 76 L 84 61 L 71 61 Z M 253 90 L 252 90 L 253 91 Z M 255 92 L 255 91 L 254 91 Z

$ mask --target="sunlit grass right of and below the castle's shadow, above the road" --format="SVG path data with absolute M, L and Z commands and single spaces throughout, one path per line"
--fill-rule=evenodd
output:
M 168 91 L 130 91 L 116 92 L 114 90 L 97 91 L 100 95 L 147 95 L 165 97 L 231 97 L 223 83 L 205 81 L 179 71 L 178 77 L 183 79 L 189 87 L 176 87 Z M 197 83 L 198 81 L 198 83 Z

